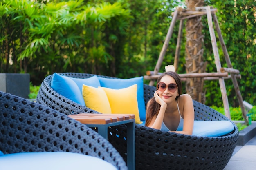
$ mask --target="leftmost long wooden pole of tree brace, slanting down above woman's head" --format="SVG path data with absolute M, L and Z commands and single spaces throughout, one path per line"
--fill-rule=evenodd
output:
M 175 25 L 175 22 L 176 22 L 176 19 L 177 19 L 178 11 L 179 11 L 179 7 L 177 7 L 177 9 L 174 12 L 173 19 L 171 21 L 171 24 L 169 26 L 169 29 L 168 29 L 168 32 L 167 32 L 167 35 L 166 35 L 166 39 L 164 41 L 164 45 L 162 47 L 161 53 L 160 53 L 160 55 L 158 57 L 157 64 L 156 64 L 155 69 L 154 69 L 154 75 L 156 75 L 159 72 L 159 69 L 160 69 L 160 67 L 162 65 L 162 62 L 164 60 L 164 55 L 166 53 L 166 49 L 168 47 L 169 41 L 171 39 L 171 36 L 173 34 L 173 28 L 174 28 L 174 25 Z M 154 81 L 151 80 L 149 82 L 149 85 L 153 86 L 154 85 Z

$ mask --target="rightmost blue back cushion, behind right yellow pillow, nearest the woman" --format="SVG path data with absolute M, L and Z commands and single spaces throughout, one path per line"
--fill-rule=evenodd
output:
M 139 118 L 141 121 L 146 119 L 146 108 L 144 102 L 144 88 L 143 88 L 143 76 L 130 79 L 108 79 L 98 77 L 101 87 L 107 87 L 112 89 L 127 88 L 133 84 L 137 84 L 137 101 L 139 108 Z

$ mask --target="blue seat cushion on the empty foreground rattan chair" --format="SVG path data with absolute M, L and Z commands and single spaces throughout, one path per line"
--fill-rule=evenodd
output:
M 117 170 L 97 157 L 71 152 L 29 152 L 0 157 L 1 170 Z

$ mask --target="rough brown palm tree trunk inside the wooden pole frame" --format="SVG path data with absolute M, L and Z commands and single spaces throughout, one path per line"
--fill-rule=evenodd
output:
M 187 8 L 195 11 L 195 7 L 202 7 L 204 0 L 186 0 Z M 186 72 L 204 73 L 203 34 L 201 16 L 189 18 L 186 22 Z M 203 78 L 190 78 L 186 82 L 186 93 L 201 103 L 205 102 Z

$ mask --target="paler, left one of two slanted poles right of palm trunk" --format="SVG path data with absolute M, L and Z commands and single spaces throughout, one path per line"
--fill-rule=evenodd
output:
M 220 69 L 221 69 L 221 64 L 220 64 L 220 56 L 218 53 L 218 47 L 217 47 L 217 42 L 216 42 L 216 36 L 214 33 L 214 29 L 213 29 L 213 20 L 211 17 L 211 8 L 210 6 L 207 6 L 207 20 L 208 20 L 208 26 L 209 26 L 209 31 L 210 31 L 210 36 L 211 36 L 211 44 L 213 47 L 213 54 L 214 54 L 214 59 L 215 59 L 215 65 L 217 68 L 217 72 L 220 73 Z M 220 92 L 222 95 L 222 101 L 223 101 L 223 105 L 224 105 L 224 110 L 225 110 L 225 116 L 229 119 L 231 119 L 230 117 L 230 110 L 229 110 L 229 101 L 227 98 L 227 91 L 226 91 L 226 86 L 225 86 L 225 82 L 223 77 L 219 78 L 219 84 L 220 84 Z

